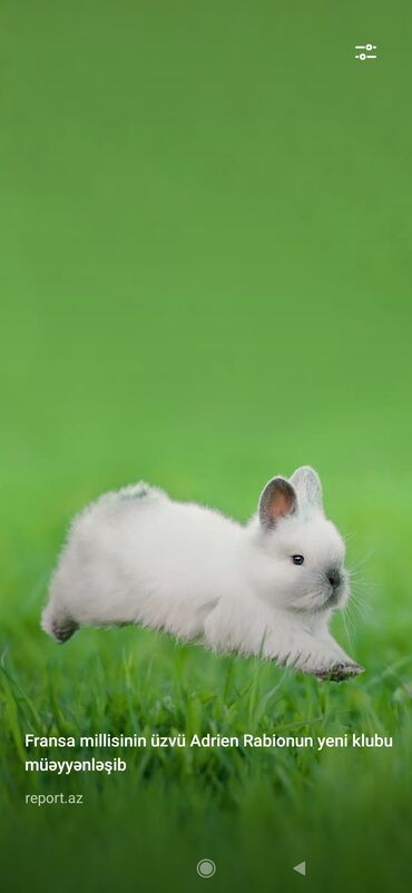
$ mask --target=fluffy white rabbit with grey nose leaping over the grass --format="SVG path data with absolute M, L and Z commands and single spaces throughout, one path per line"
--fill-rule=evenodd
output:
M 77 516 L 42 627 L 140 624 L 335 681 L 362 667 L 327 630 L 349 598 L 345 548 L 311 468 L 273 478 L 247 524 L 144 483 Z

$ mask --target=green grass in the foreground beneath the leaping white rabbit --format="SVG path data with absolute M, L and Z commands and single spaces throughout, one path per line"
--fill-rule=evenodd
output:
M 377 524 L 369 528 L 373 533 L 379 547 Z M 371 889 L 402 890 L 411 820 L 408 580 L 401 577 L 394 592 L 385 559 L 369 563 L 364 616 L 354 618 L 350 644 L 337 624 L 341 641 L 366 671 L 340 686 L 133 628 L 82 630 L 56 646 L 38 629 L 40 580 L 13 605 L 1 637 L 3 870 L 10 866 L 10 877 L 17 871 L 21 889 L 51 890 L 50 877 L 58 877 L 69 891 L 81 886 L 87 871 L 96 891 L 127 890 L 135 882 L 189 891 L 200 883 L 196 862 L 209 855 L 218 865 L 217 890 L 269 891 L 274 879 L 294 890 L 291 866 L 306 858 L 313 889 L 339 889 L 344 879 L 345 886 L 361 890 L 367 876 Z M 394 745 L 322 753 L 125 748 L 102 752 L 121 755 L 125 774 L 58 778 L 23 771 L 27 732 L 154 729 L 187 736 L 377 732 L 393 735 Z M 28 793 L 82 793 L 84 805 L 23 805 Z

